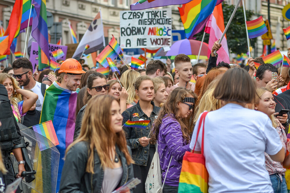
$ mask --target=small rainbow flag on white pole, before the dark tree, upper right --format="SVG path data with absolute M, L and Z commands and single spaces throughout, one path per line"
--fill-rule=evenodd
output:
M 247 21 L 247 30 L 249 38 L 256 38 L 268 32 L 262 16 L 258 19 Z

